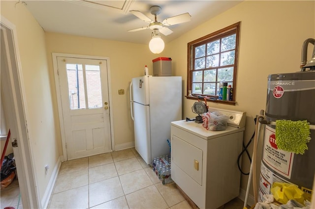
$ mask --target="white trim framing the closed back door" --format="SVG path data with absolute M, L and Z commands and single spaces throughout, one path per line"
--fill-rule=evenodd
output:
M 59 74 L 58 74 L 58 63 L 57 57 L 70 57 L 70 58 L 81 58 L 81 59 L 103 59 L 107 60 L 107 83 L 108 83 L 108 100 L 109 100 L 109 120 L 110 120 L 110 135 L 111 135 L 111 142 L 112 147 L 111 149 L 114 150 L 115 147 L 115 140 L 114 140 L 114 121 L 113 121 L 113 106 L 112 104 L 112 91 L 111 91 L 111 77 L 110 77 L 110 61 L 109 57 L 104 56 L 91 56 L 91 55 L 81 55 L 81 54 L 69 54 L 69 53 L 57 53 L 52 52 L 53 58 L 53 68 L 54 68 L 54 76 L 55 76 L 55 87 L 56 87 L 56 96 L 57 96 L 57 104 L 58 104 L 58 114 L 59 114 L 59 123 L 60 123 L 60 132 L 61 132 L 61 139 L 62 139 L 62 146 L 63 146 L 63 161 L 67 161 L 67 150 L 66 150 L 66 141 L 65 141 L 65 129 L 63 123 L 63 109 L 62 109 L 62 102 L 61 102 L 61 89 L 60 89 L 60 82 L 59 82 Z

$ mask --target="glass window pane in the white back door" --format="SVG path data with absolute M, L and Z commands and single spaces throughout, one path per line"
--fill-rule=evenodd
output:
M 66 64 L 66 71 L 70 109 L 101 108 L 99 65 Z

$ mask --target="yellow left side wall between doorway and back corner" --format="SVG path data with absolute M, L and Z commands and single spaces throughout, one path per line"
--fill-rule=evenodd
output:
M 1 16 L 16 26 L 18 52 L 20 54 L 22 79 L 24 81 L 26 115 L 32 148 L 35 177 L 37 178 L 38 196 L 43 198 L 52 171 L 60 152 L 57 140 L 51 95 L 50 75 L 48 72 L 45 48 L 45 33 L 38 25 L 27 7 L 17 1 L 0 1 Z M 1 46 L 2 47 L 2 46 Z M 18 80 L 17 80 L 18 82 Z M 45 165 L 50 166 L 45 175 Z M 39 201 L 40 202 L 40 201 Z

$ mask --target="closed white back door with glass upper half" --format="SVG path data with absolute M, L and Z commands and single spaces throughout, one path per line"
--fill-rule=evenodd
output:
M 57 57 L 67 159 L 111 151 L 107 60 Z

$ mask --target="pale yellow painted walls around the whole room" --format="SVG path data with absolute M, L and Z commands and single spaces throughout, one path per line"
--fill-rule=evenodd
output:
M 50 164 L 53 168 L 63 153 L 52 52 L 110 58 L 110 107 L 114 114 L 115 144 L 119 145 L 133 142 L 133 123 L 129 106 L 130 79 L 142 76 L 144 65 L 149 66 L 149 73 L 152 74 L 152 59 L 158 56 L 172 57 L 173 75 L 183 77 L 183 92 L 186 95 L 187 43 L 241 21 L 237 104 L 209 105 L 246 111 L 244 140 L 247 143 L 254 130 L 253 118 L 265 108 L 267 76 L 298 71 L 302 43 L 307 38 L 315 37 L 314 1 L 244 1 L 177 40 L 166 43 L 165 51 L 156 55 L 149 51 L 147 45 L 44 33 L 27 8 L 21 3 L 15 8 L 15 2 L 1 0 L 1 15 L 17 27 L 30 116 L 30 141 L 40 197 L 43 196 L 51 176 L 51 173 L 45 176 L 44 165 Z M 118 89 L 125 89 L 125 95 L 118 95 Z M 194 117 L 191 112 L 194 101 L 183 101 L 183 117 Z M 243 169 L 248 171 L 249 166 L 248 159 L 244 157 Z M 247 176 L 242 176 L 244 190 L 246 183 Z

